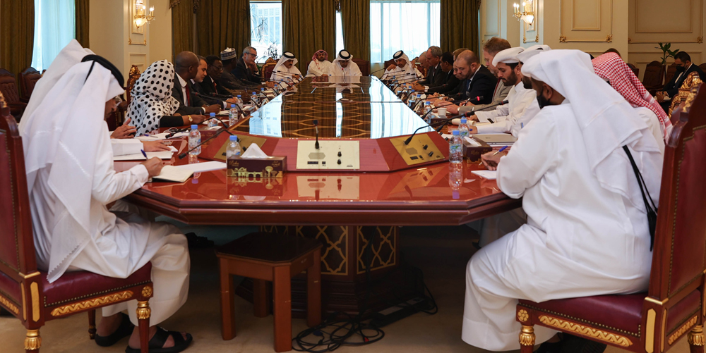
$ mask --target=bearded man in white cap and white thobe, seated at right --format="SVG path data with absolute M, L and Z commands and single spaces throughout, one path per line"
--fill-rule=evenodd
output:
M 508 104 L 498 106 L 493 111 L 476 112 L 474 120 L 491 124 L 472 126 L 469 132 L 474 134 L 510 132 L 517 137 L 522 126 L 527 125 L 539 113 L 537 92 L 532 89 L 529 78 L 523 78 L 520 72 L 522 66 L 517 60 L 517 54 L 522 51 L 522 47 L 505 49 L 493 58 L 493 66 L 498 69 L 498 78 L 503 80 L 504 85 L 513 86 L 508 93 Z M 465 113 L 472 109 L 472 106 L 462 106 L 458 111 Z

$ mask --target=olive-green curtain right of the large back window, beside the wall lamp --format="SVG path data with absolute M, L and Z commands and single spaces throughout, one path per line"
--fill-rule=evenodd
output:
M 441 0 L 442 51 L 459 48 L 478 51 L 479 3 L 479 0 Z

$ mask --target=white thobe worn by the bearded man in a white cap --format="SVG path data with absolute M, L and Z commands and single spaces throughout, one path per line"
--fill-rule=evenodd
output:
M 493 123 L 489 125 L 479 125 L 479 134 L 496 134 L 510 132 L 517 137 L 522 126 L 530 123 L 530 120 L 539 113 L 537 103 L 537 92 L 534 89 L 527 89 L 520 82 L 510 89 L 508 94 L 508 104 L 498 106 L 493 111 L 477 111 L 476 116 L 481 123 Z M 490 119 L 490 120 L 489 120 Z

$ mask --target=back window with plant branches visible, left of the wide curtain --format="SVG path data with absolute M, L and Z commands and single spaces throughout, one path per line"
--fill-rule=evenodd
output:
M 282 2 L 251 0 L 250 18 L 250 45 L 258 50 L 257 61 L 282 55 Z

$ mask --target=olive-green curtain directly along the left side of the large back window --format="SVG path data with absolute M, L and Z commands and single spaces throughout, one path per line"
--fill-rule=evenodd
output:
M 370 61 L 370 0 L 341 0 L 340 4 L 343 45 L 354 58 Z

